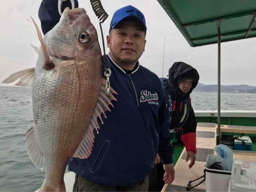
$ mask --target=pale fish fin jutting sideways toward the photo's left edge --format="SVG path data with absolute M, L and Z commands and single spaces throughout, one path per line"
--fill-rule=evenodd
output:
M 26 68 L 24 70 L 15 72 L 14 74 L 4 79 L 2 83 L 12 83 L 14 81 L 19 80 L 18 83 L 16 83 L 15 85 L 31 86 L 33 82 L 34 70 L 35 70 L 35 67 L 32 67 L 32 68 Z

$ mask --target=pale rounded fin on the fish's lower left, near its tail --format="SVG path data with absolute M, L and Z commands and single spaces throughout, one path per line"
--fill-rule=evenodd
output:
M 26 149 L 31 161 L 40 170 L 44 170 L 44 154 L 40 149 L 35 136 L 35 125 L 31 125 L 26 132 Z

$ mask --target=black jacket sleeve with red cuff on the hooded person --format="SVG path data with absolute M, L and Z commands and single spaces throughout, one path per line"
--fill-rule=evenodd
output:
M 182 128 L 183 134 L 180 140 L 185 145 L 187 151 L 191 150 L 196 153 L 196 118 L 191 103 L 189 106 L 188 120 L 186 120 Z

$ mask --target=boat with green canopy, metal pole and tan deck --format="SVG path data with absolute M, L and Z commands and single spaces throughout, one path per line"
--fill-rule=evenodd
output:
M 252 138 L 252 150 L 232 149 L 234 161 L 254 163 L 256 160 L 256 111 L 221 111 L 221 43 L 244 40 L 256 36 L 256 4 L 253 0 L 157 0 L 191 47 L 218 44 L 218 110 L 195 111 L 196 163 L 189 170 L 184 160 L 184 147 L 175 148 L 175 180 L 162 191 L 236 191 L 227 180 L 207 178 L 207 158 L 215 154 L 214 148 L 225 143 L 225 138 L 246 136 Z M 224 63 L 225 64 L 225 63 Z M 227 145 L 227 143 L 225 143 Z M 231 149 L 231 146 L 230 146 Z M 234 165 L 233 167 L 234 168 Z M 256 175 L 256 169 L 253 175 Z M 221 180 L 221 179 L 222 180 Z M 208 180 L 207 180 L 208 179 Z M 211 180 L 212 179 L 212 180 Z M 211 181 L 210 181 L 211 180 Z M 224 188 L 218 188 L 223 183 Z M 213 182 L 211 185 L 209 182 Z M 206 183 L 206 184 L 205 184 Z M 216 188 L 209 189 L 207 186 Z M 256 184 L 252 191 L 256 191 Z M 239 191 L 250 189 L 239 188 Z

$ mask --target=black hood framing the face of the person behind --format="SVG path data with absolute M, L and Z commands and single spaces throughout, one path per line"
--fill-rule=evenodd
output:
M 188 93 L 183 93 L 179 88 L 179 80 L 182 77 L 189 77 L 193 79 L 193 84 L 191 90 Z M 190 93 L 196 87 L 199 81 L 199 74 L 195 68 L 182 61 L 173 63 L 172 67 L 169 69 L 168 84 L 172 92 L 172 97 L 175 100 L 183 100 L 189 97 Z

